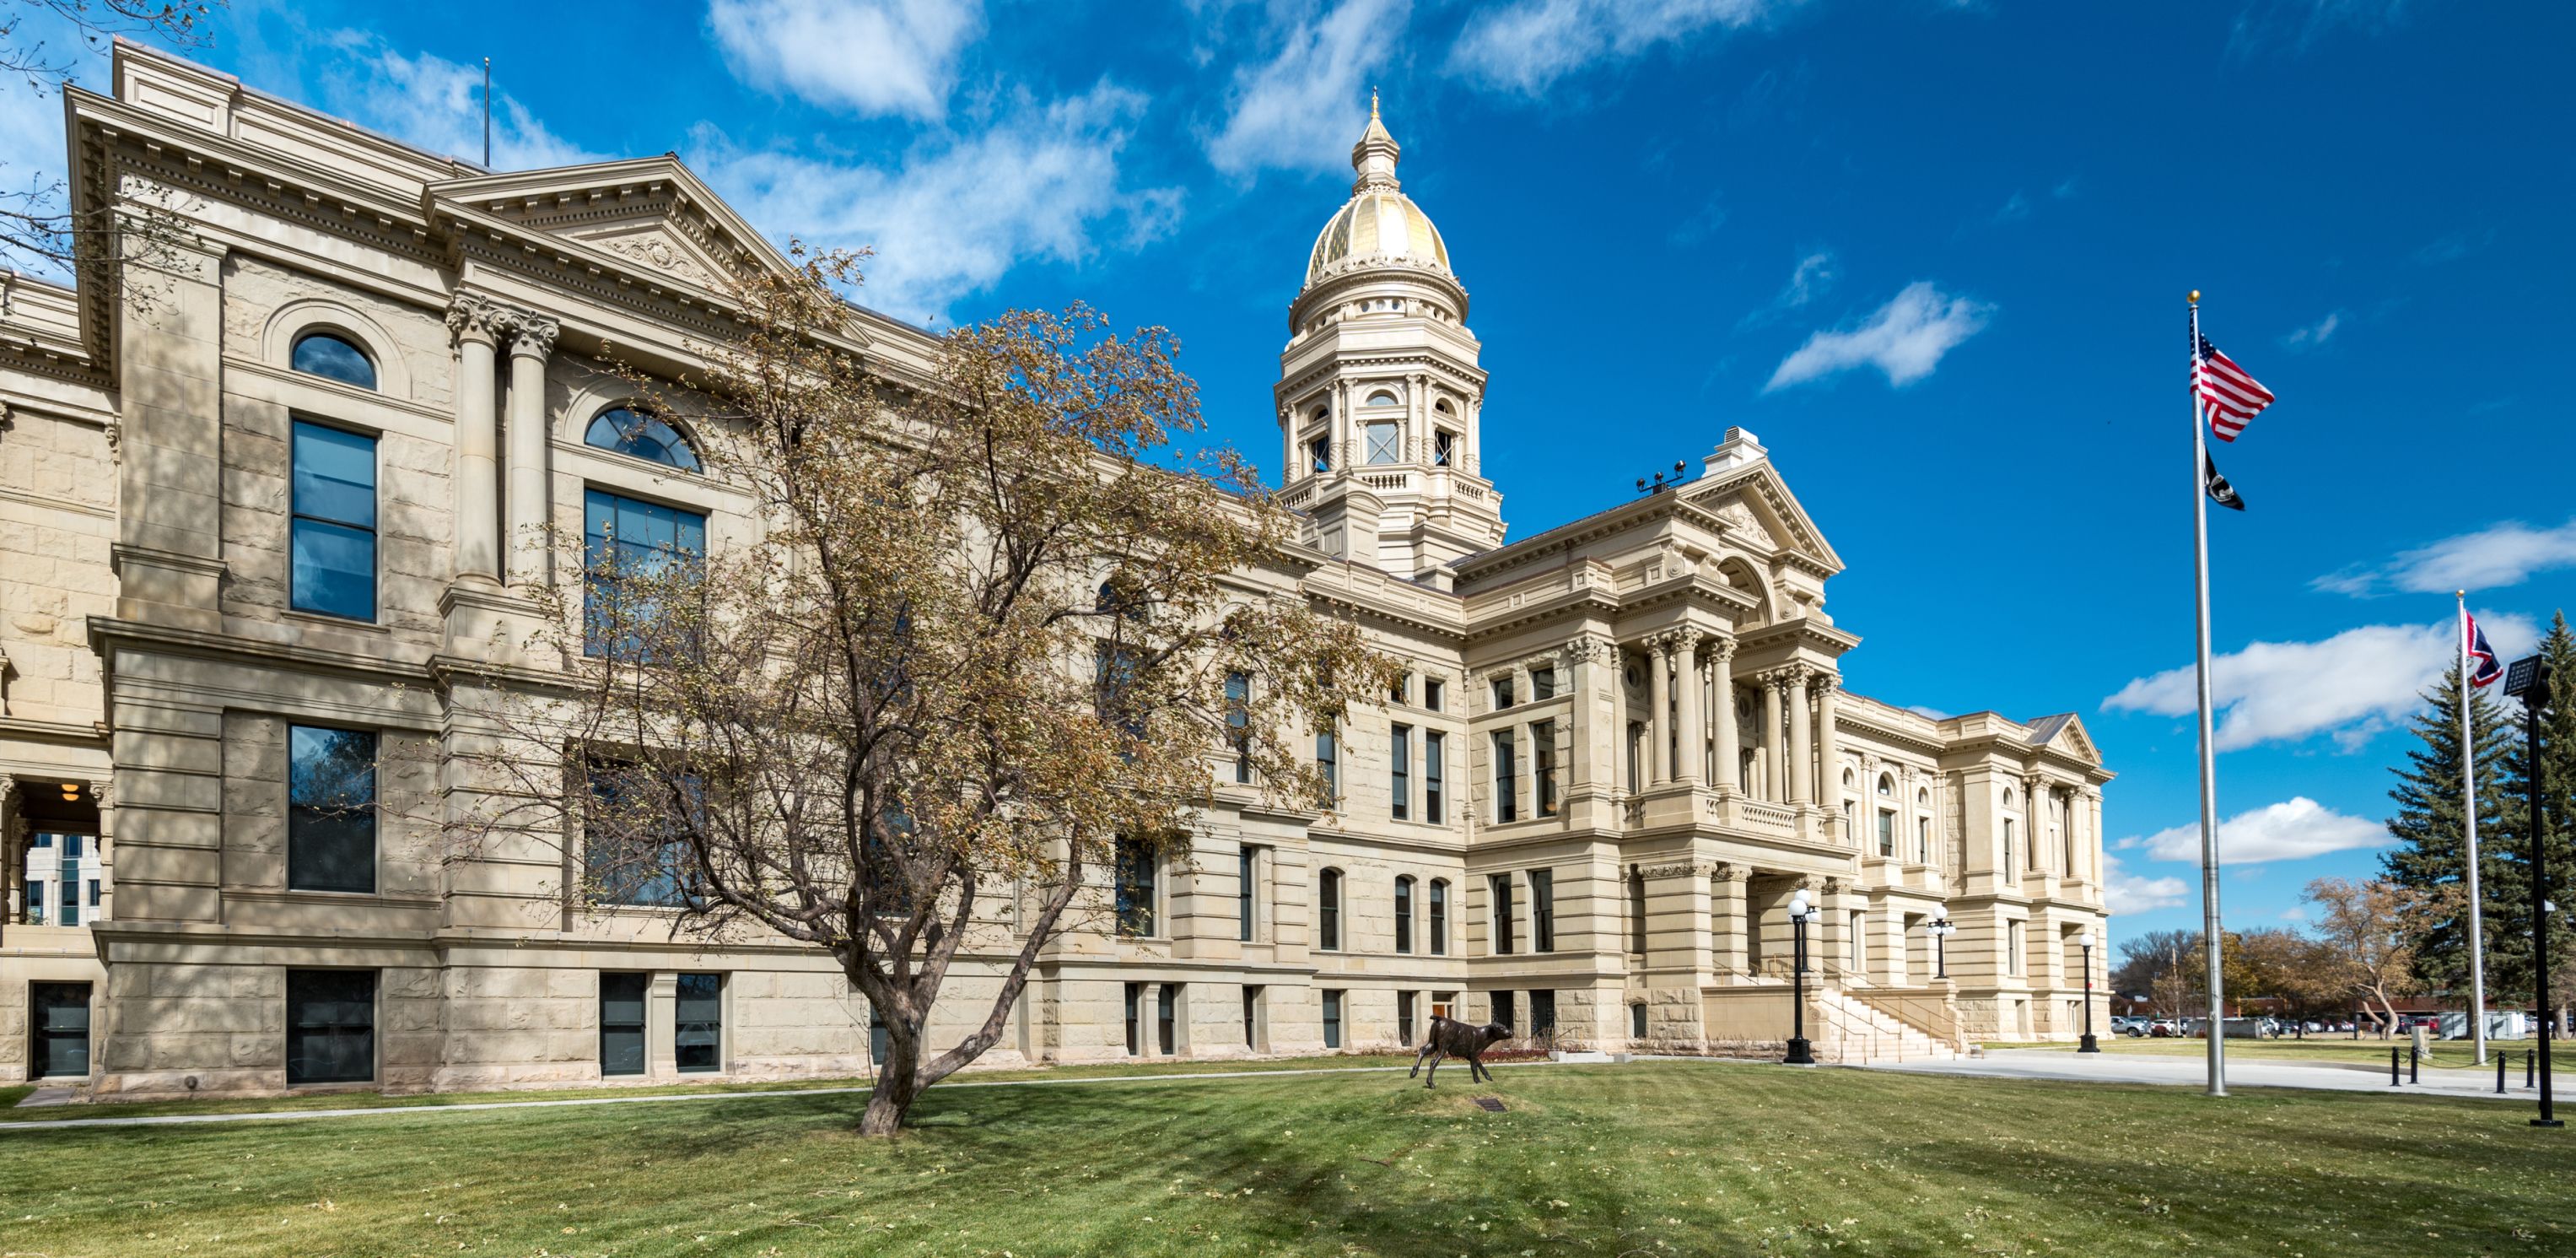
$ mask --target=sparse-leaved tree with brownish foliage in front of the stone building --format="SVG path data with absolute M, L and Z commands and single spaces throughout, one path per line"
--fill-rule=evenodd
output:
M 590 539 L 531 650 L 559 673 L 484 755 L 487 833 L 564 812 L 569 895 L 827 951 L 886 1029 L 860 1129 L 891 1134 L 1051 938 L 1115 915 L 1121 861 L 1188 853 L 1218 776 L 1314 807 L 1298 737 L 1396 673 L 1306 606 L 1255 472 L 1175 451 L 1200 420 L 1167 333 L 1012 312 L 891 400 L 845 335 L 855 258 L 796 258 L 693 379 L 636 376 L 760 536 Z M 958 962 L 994 982 L 933 1052 Z

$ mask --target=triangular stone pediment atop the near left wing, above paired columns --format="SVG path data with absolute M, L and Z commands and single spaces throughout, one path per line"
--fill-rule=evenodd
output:
M 791 266 L 670 155 L 446 180 L 428 186 L 428 198 L 708 291 L 755 268 Z

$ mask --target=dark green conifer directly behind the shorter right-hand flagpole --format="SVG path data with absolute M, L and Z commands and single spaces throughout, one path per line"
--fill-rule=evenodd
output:
M 2486 691 L 2470 691 L 2468 719 L 2478 740 L 2478 892 L 2486 900 L 2486 944 L 2488 956 L 2494 956 L 2499 923 L 2519 931 L 2517 923 L 2524 920 L 2522 905 L 2530 900 L 2530 884 L 2522 882 L 2519 871 L 2506 869 L 2499 851 L 2506 838 L 2501 830 L 2506 807 L 2504 745 L 2512 735 L 2506 709 L 2488 699 Z M 2406 763 L 2396 768 L 2398 784 L 2388 791 L 2388 799 L 2396 802 L 2396 817 L 2388 817 L 2388 833 L 2396 835 L 2398 846 L 2388 848 L 2380 864 L 2391 882 L 2427 897 L 2437 897 L 2447 887 L 2465 892 L 2468 835 L 2460 825 L 2465 791 L 2460 791 L 2458 668 L 2442 673 L 2442 683 L 2424 691 L 2424 711 L 2416 714 L 2411 727 L 2421 745 L 2409 750 Z M 2517 889 L 2524 892 L 2524 900 L 2514 900 Z M 2468 990 L 2465 897 L 2460 905 L 2460 915 L 2434 920 L 2416 938 L 2416 974 L 2452 992 Z M 2486 982 L 2488 992 L 2494 992 L 2494 969 L 2488 969 Z

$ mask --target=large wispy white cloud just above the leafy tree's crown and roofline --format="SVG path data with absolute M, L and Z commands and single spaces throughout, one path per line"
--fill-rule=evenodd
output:
M 1118 152 L 1144 95 L 1108 80 L 899 165 L 737 150 L 701 124 L 693 162 L 757 224 L 817 245 L 876 247 L 871 307 L 925 320 L 1030 258 L 1079 263 L 1100 232 L 1133 247 L 1180 214 L 1177 188 L 1121 188 Z

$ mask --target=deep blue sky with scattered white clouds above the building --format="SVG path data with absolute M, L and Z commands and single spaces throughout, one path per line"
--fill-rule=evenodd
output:
M 677 152 L 945 325 L 1087 299 L 1275 459 L 1285 307 L 1368 90 L 1473 294 L 1515 534 L 1728 425 L 1850 572 L 1855 691 L 2079 711 L 2125 913 L 2197 923 L 2184 302 L 2280 405 L 2213 521 L 2231 925 L 2365 874 L 2450 590 L 2576 603 L 2568 5 L 1278 0 L 278 5 L 198 57 L 495 165 Z M 80 77 L 106 88 L 103 62 Z M 0 113 L 10 183 L 52 101 Z M 2179 670 L 2179 673 L 2172 673 Z

